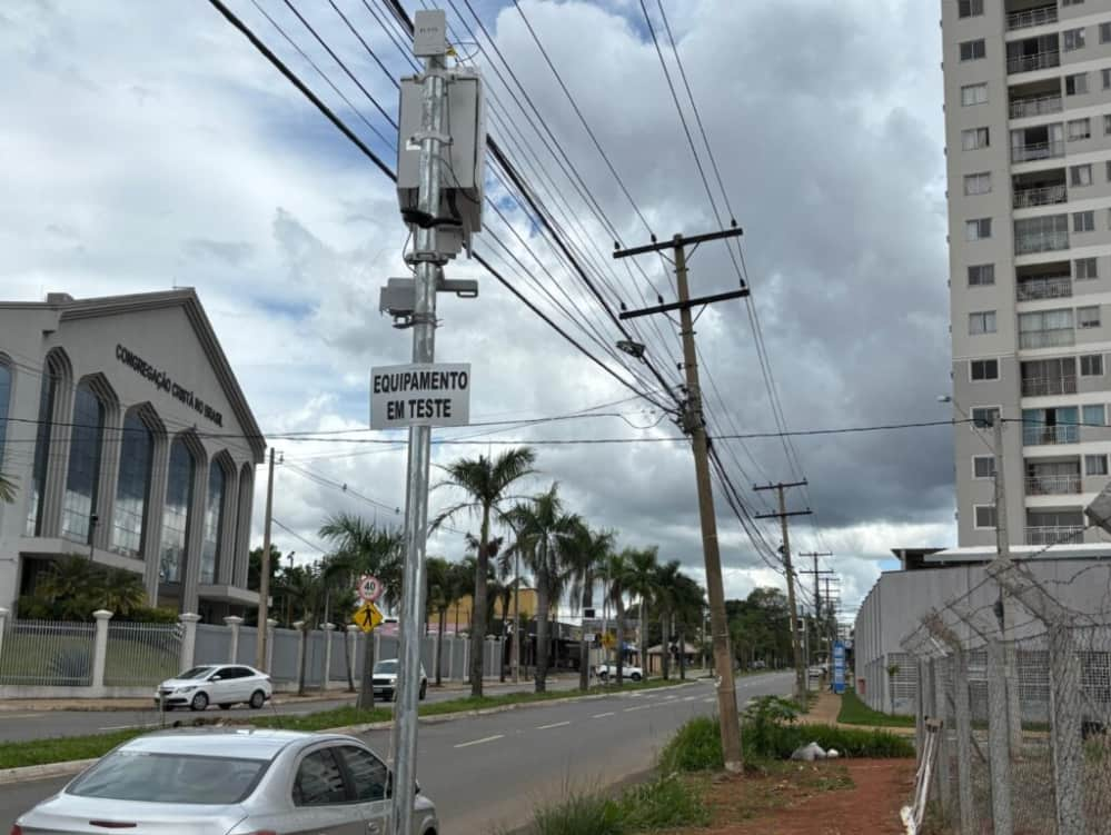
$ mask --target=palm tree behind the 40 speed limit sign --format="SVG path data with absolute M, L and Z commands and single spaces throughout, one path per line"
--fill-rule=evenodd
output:
M 350 574 L 370 574 L 383 585 L 387 603 L 400 598 L 401 567 L 405 561 L 405 538 L 396 529 L 378 527 L 353 514 L 336 514 L 320 526 L 320 536 L 337 546 L 337 559 Z M 363 652 L 363 680 L 356 706 L 374 707 L 374 640 L 367 636 Z

